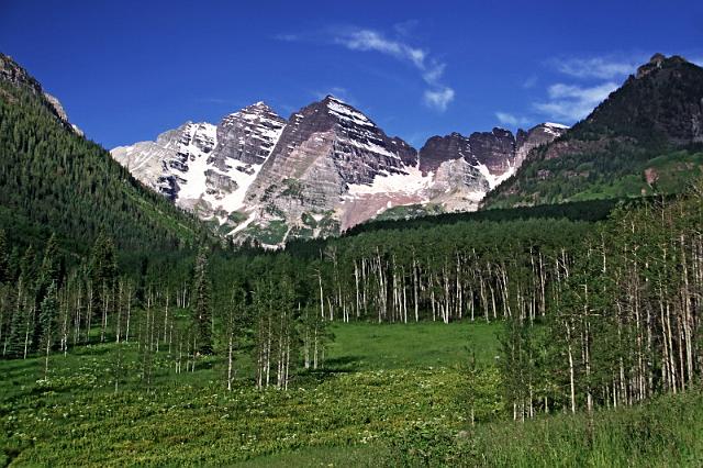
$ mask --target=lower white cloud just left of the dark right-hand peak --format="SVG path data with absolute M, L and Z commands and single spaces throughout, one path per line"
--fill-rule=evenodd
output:
M 533 105 L 537 112 L 553 120 L 574 122 L 585 118 L 616 89 L 617 83 L 613 81 L 593 87 L 556 83 L 548 89 L 548 101 Z

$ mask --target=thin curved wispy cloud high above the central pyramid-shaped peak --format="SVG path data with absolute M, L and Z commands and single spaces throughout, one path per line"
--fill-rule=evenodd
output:
M 338 32 L 334 43 L 350 51 L 378 52 L 400 62 L 411 64 L 427 83 L 423 93 L 424 103 L 439 112 L 444 112 L 454 100 L 453 88 L 442 82 L 446 64 L 432 57 L 428 51 L 414 47 L 400 40 L 392 40 L 382 33 L 367 29 L 352 29 Z

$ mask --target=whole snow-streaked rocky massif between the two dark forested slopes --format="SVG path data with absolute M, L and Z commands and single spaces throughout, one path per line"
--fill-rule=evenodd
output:
M 279 245 L 379 214 L 473 211 L 563 125 L 434 136 L 419 151 L 327 96 L 288 120 L 263 102 L 217 125 L 187 122 L 112 156 L 147 187 L 238 238 Z

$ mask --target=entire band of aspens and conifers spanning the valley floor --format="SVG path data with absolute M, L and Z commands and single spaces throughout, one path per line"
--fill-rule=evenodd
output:
M 607 221 L 515 220 L 364 232 L 283 252 L 203 247 L 120 267 L 98 236 L 72 264 L 0 243 L 5 358 L 114 342 L 175 374 L 215 356 L 232 388 L 284 389 L 323 366 L 328 324 L 505 324 L 498 365 L 515 419 L 637 403 L 701 380 L 701 186 Z M 68 266 L 71 265 L 71 266 Z

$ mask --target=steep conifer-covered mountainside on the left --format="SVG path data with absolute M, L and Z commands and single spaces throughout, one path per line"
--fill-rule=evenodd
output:
M 13 243 L 86 252 L 100 231 L 132 253 L 196 243 L 192 215 L 144 188 L 110 154 L 87 141 L 60 103 L 0 54 L 0 226 Z

